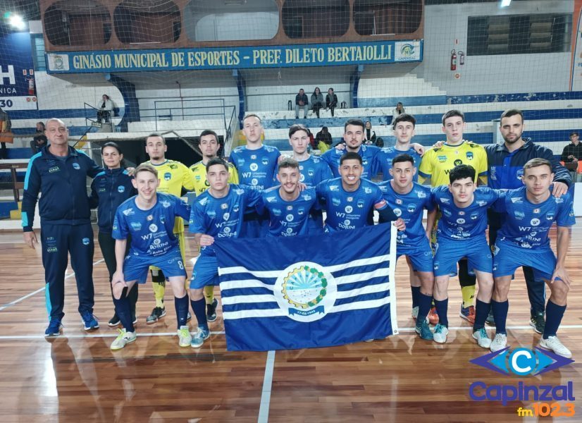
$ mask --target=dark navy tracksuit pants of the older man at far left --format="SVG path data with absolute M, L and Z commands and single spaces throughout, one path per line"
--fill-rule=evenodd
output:
M 52 225 L 42 223 L 42 264 L 47 284 L 45 297 L 51 319 L 62 320 L 65 303 L 65 272 L 68 255 L 75 272 L 79 295 L 79 312 L 92 313 L 93 289 L 93 229 L 90 223 L 80 225 Z

